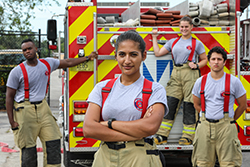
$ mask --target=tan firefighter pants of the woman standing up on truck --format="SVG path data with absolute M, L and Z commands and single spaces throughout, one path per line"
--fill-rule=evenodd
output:
M 199 70 L 192 70 L 188 63 L 183 64 L 181 67 L 174 67 L 171 78 L 168 81 L 166 92 L 167 96 L 174 97 L 176 99 L 179 99 L 180 103 L 183 100 L 184 102 L 193 103 L 192 98 L 192 89 L 194 86 L 195 81 L 199 78 Z M 175 117 L 177 115 L 177 112 L 179 110 L 179 106 L 177 107 L 177 110 L 175 111 L 169 111 L 169 112 L 176 112 Z M 183 110 L 183 113 L 186 112 Z M 196 121 L 197 121 L 197 112 L 195 112 L 195 121 L 193 124 L 183 124 L 183 131 L 182 131 L 182 137 L 189 138 L 193 140 L 194 134 L 195 134 L 195 127 L 196 127 Z M 185 118 L 184 118 L 185 119 Z M 162 136 L 169 136 L 169 133 L 173 127 L 175 118 L 173 120 L 169 119 L 163 119 L 162 124 L 159 128 L 159 131 L 157 132 L 158 135 Z

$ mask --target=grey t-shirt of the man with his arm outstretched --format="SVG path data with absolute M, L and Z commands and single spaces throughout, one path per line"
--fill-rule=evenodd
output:
M 45 58 L 49 63 L 51 72 L 56 70 L 60 64 L 58 59 Z M 38 60 L 36 66 L 27 65 L 26 61 L 23 62 L 28 74 L 29 80 L 29 101 L 41 101 L 46 94 L 47 82 L 48 82 L 48 68 L 47 66 Z M 16 89 L 16 95 L 14 100 L 16 102 L 24 101 L 24 78 L 23 72 L 20 66 L 16 66 L 11 70 L 7 87 Z

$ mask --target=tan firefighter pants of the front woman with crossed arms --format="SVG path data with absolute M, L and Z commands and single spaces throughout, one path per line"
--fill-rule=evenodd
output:
M 103 142 L 95 153 L 92 167 L 162 167 L 159 155 L 147 154 L 147 150 L 157 150 L 155 144 L 140 140 L 125 145 L 115 150 Z

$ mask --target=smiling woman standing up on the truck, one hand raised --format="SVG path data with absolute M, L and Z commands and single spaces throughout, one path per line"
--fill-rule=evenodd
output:
M 180 145 L 190 145 L 195 134 L 197 112 L 193 106 L 192 88 L 199 78 L 199 68 L 207 64 L 205 48 L 202 42 L 191 36 L 192 19 L 184 16 L 180 20 L 181 36 L 170 39 L 161 49 L 157 43 L 157 30 L 152 31 L 153 48 L 156 57 L 172 52 L 174 68 L 167 83 L 169 113 L 164 117 L 154 138 L 156 144 L 166 144 L 173 127 L 180 103 L 183 101 L 183 131 Z M 198 62 L 197 56 L 200 62 Z

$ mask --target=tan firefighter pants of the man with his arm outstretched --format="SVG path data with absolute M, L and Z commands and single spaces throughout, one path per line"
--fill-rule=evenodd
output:
M 13 112 L 14 119 L 19 124 L 18 130 L 13 132 L 15 143 L 21 149 L 21 161 L 25 161 L 29 154 L 36 154 L 36 141 L 39 137 L 43 145 L 44 166 L 61 167 L 62 136 L 46 100 L 40 104 L 31 104 L 29 101 L 15 103 Z M 33 150 L 32 153 L 29 150 Z

